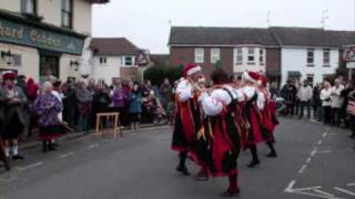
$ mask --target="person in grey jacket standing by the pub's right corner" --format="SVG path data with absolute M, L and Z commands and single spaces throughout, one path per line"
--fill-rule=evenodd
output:
M 89 116 L 91 111 L 92 95 L 84 82 L 78 83 L 75 98 L 79 116 L 78 130 L 89 132 Z

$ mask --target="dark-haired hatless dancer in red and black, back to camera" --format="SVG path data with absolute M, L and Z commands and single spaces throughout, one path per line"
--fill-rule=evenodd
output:
M 231 197 L 240 193 L 237 186 L 236 159 L 241 149 L 241 136 L 235 121 L 237 96 L 230 85 L 229 75 L 223 70 L 215 70 L 211 78 L 214 83 L 210 94 L 202 92 L 200 102 L 204 114 L 204 132 L 199 132 L 199 139 L 209 144 L 204 157 L 209 174 L 213 177 L 229 177 L 229 188 L 221 193 Z

